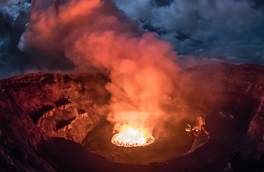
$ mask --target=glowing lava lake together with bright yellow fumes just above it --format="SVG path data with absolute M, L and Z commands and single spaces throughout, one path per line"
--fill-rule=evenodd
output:
M 154 142 L 154 137 L 142 127 L 122 125 L 121 133 L 115 134 L 111 142 L 122 147 L 147 146 Z

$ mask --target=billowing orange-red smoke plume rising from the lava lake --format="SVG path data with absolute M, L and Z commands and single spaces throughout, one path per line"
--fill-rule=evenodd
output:
M 33 1 L 18 47 L 40 54 L 36 62 L 47 66 L 72 63 L 74 71 L 109 73 L 108 120 L 117 130 L 130 124 L 151 134 L 177 101 L 177 53 L 109 0 Z

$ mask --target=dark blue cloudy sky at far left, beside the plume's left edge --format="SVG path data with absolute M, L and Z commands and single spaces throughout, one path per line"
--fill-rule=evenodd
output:
M 31 62 L 17 48 L 26 30 L 31 2 L 11 0 L 0 4 L 0 78 L 7 78 L 32 69 Z

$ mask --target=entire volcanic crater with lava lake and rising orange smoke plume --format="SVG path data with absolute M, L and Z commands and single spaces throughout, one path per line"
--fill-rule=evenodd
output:
M 66 171 L 67 153 L 56 157 L 63 152 L 56 149 L 63 142 L 72 157 L 77 149 L 85 155 L 81 157 L 98 158 L 96 153 L 135 168 L 135 164 L 164 163 L 151 166 L 158 170 L 171 168 L 168 163 L 190 171 L 186 164 L 197 167 L 197 159 L 211 168 L 223 167 L 228 162 L 219 162 L 218 156 L 227 160 L 234 147 L 246 150 L 246 144 L 253 141 L 258 147 L 249 150 L 248 156 L 263 150 L 263 132 L 255 127 L 263 117 L 263 68 L 221 64 L 181 70 L 170 43 L 140 28 L 110 0 L 35 0 L 26 27 L 18 47 L 36 66 L 96 73 L 40 73 L 1 81 L 0 136 L 4 137 L 3 129 L 5 136 L 12 137 L 0 139 L 5 168 L 16 164 L 9 157 L 18 161 L 17 156 L 5 153 L 10 148 L 8 153 L 19 152 L 26 163 L 21 165 L 24 171 L 34 164 L 34 158 L 28 157 L 39 157 L 46 166 Z M 230 77 L 234 69 L 242 72 Z M 258 73 L 262 80 L 254 75 L 255 70 L 262 72 Z M 198 128 L 193 130 L 197 133 L 189 136 L 188 125 Z M 244 138 L 245 133 L 253 141 Z M 18 146 L 16 141 L 25 147 L 12 149 Z M 71 163 L 80 166 L 75 171 L 84 171 L 88 162 L 100 166 L 102 160 L 77 159 L 77 165 Z M 105 166 L 111 166 L 106 160 Z M 212 171 L 210 166 L 202 168 Z

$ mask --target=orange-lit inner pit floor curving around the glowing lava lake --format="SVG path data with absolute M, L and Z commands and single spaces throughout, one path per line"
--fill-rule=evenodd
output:
M 198 125 L 199 117 L 201 116 L 196 108 L 191 107 L 175 107 L 174 112 L 177 115 L 184 114 L 186 118 L 169 117 L 164 123 L 161 123 L 161 125 L 153 130 L 155 141 L 149 145 L 133 147 L 133 145 L 126 143 L 128 145 L 123 147 L 113 144 L 110 141 L 113 141 L 113 137 L 115 136 L 112 133 L 114 125 L 105 122 L 87 134 L 82 142 L 82 146 L 90 152 L 102 155 L 107 160 L 118 163 L 142 165 L 153 162 L 166 162 L 191 150 L 195 136 L 189 136 L 185 131 L 185 127 L 188 123 Z M 120 134 L 118 131 L 116 133 L 117 136 Z M 152 137 L 147 136 L 147 138 Z M 117 144 L 122 143 L 117 142 Z

